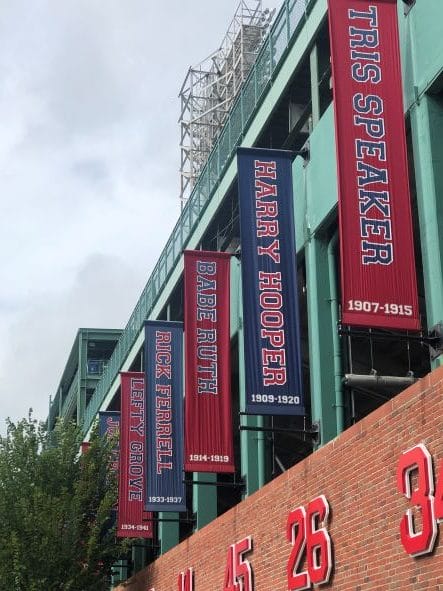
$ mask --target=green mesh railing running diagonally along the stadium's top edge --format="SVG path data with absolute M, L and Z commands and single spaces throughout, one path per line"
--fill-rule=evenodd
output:
M 135 343 L 144 320 L 149 316 L 228 163 L 233 158 L 235 149 L 240 144 L 265 89 L 283 62 L 286 50 L 297 38 L 304 19 L 315 2 L 316 0 L 286 0 L 280 9 L 192 194 L 120 336 L 108 367 L 91 397 L 84 416 L 85 432 L 89 430 L 100 405 Z

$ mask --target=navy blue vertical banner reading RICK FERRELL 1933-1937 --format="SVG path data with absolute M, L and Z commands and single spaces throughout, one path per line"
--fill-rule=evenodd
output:
M 145 322 L 147 511 L 186 511 L 183 323 Z

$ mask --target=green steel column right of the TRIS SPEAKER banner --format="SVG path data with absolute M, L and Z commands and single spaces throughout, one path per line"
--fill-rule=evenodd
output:
M 428 327 L 443 321 L 443 101 L 428 95 L 411 109 Z M 440 356 L 434 366 L 441 365 Z

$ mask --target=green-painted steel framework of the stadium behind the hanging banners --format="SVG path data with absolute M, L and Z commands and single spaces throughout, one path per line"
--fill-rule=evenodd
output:
M 405 110 L 410 130 L 411 168 L 415 177 L 416 206 L 421 245 L 423 287 L 428 326 L 443 320 L 443 3 L 417 0 L 407 14 L 399 0 Z M 311 420 L 320 425 L 320 444 L 346 426 L 343 392 L 343 343 L 337 334 L 337 177 L 332 104 L 323 105 L 320 67 L 326 30 L 326 0 L 286 0 L 255 68 L 234 105 L 194 192 L 184 208 L 160 259 L 124 329 L 109 365 L 78 418 L 85 433 L 100 409 L 118 392 L 118 372 L 133 367 L 142 348 L 145 318 L 158 318 L 173 297 L 183 272 L 183 248 L 198 248 L 216 219 L 226 196 L 235 187 L 237 145 L 257 145 L 291 84 L 309 64 L 305 84 L 310 95 L 309 159 L 293 164 L 296 244 L 305 267 L 309 391 Z M 326 81 L 328 82 L 328 81 Z M 275 147 L 275 146 L 274 146 Z M 244 363 L 241 263 L 232 261 L 231 333 L 238 342 L 238 391 L 244 404 Z M 174 318 L 172 318 L 174 319 Z M 434 362 L 439 363 L 439 360 Z M 54 400 L 51 417 L 65 414 L 62 398 Z M 241 416 L 243 426 L 263 426 L 260 417 Z M 241 475 L 244 494 L 260 488 L 267 478 L 266 441 L 261 431 L 241 431 Z M 194 480 L 208 480 L 194 475 Z M 195 527 L 217 515 L 215 487 L 194 485 Z M 168 515 L 168 517 L 171 517 Z M 179 540 L 177 523 L 161 522 L 161 551 Z

